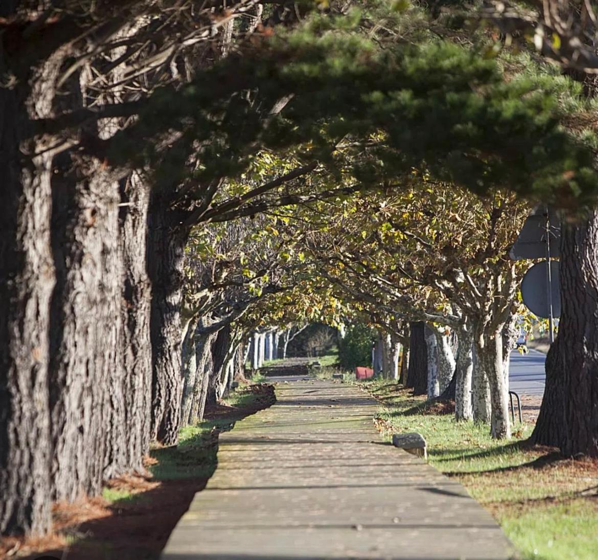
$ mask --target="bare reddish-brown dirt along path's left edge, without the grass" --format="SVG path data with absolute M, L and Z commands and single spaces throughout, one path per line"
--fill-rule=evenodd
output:
M 264 409 L 274 401 L 271 385 L 251 385 L 256 398 L 244 406 L 206 407 L 206 419 L 231 422 Z M 152 459 L 147 458 L 147 466 Z M 0 538 L 6 560 L 155 560 L 170 533 L 208 477 L 152 480 L 148 473 L 120 477 L 108 488 L 136 494 L 135 500 L 109 503 L 102 497 L 53 505 L 53 533 L 43 539 Z M 138 495 L 137 495 L 138 494 Z

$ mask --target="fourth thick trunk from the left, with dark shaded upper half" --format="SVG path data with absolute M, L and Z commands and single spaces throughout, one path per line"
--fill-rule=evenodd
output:
M 154 193 L 148 214 L 148 273 L 152 286 L 151 436 L 164 445 L 178 439 L 181 422 L 181 301 L 188 229 Z

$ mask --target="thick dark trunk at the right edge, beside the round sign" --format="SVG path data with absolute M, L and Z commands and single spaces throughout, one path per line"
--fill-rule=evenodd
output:
M 598 456 L 598 212 L 563 221 L 559 336 L 546 360 L 546 388 L 530 440 L 566 456 Z

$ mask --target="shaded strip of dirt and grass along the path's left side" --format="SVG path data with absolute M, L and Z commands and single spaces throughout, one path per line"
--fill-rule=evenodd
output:
M 240 386 L 206 407 L 205 421 L 182 428 L 178 446 L 151 450 L 145 462 L 151 477 L 122 476 L 109 481 L 101 497 L 53 504 L 53 532 L 42 539 L 0 537 L 0 558 L 158 560 L 216 467 L 218 434 L 273 401 L 270 385 Z

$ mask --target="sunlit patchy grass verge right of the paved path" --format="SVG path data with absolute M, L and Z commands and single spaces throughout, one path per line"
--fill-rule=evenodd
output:
M 417 431 L 429 462 L 461 482 L 490 510 L 521 558 L 594 559 L 598 550 L 598 461 L 565 459 L 531 447 L 533 424 L 518 422 L 509 442 L 493 440 L 487 425 L 457 423 L 447 407 L 414 397 L 395 382 L 360 382 L 380 402 L 380 431 Z

